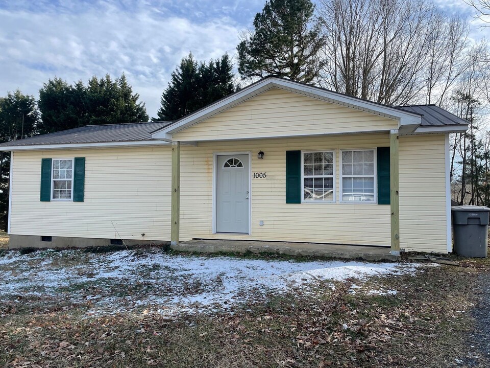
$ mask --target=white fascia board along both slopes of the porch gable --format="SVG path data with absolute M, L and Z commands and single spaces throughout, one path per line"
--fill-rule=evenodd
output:
M 308 86 L 295 81 L 290 81 L 281 78 L 269 77 L 256 84 L 251 84 L 248 87 L 243 88 L 237 93 L 230 95 L 222 100 L 215 102 L 201 110 L 198 110 L 187 117 L 177 121 L 168 127 L 156 131 L 152 134 L 153 139 L 170 139 L 171 134 L 183 130 L 191 125 L 199 123 L 219 112 L 222 112 L 234 105 L 237 105 L 243 101 L 246 101 L 254 96 L 257 96 L 264 91 L 271 88 L 280 88 L 288 90 L 293 93 L 308 96 L 317 100 L 327 101 L 335 103 L 337 105 L 343 105 L 351 107 L 357 110 L 362 110 L 376 114 L 378 116 L 394 119 L 399 122 L 400 126 L 414 125 L 418 127 L 421 124 L 422 117 L 419 114 L 403 111 L 394 107 L 384 106 L 370 101 L 361 100 L 351 96 L 341 95 L 332 91 L 328 91 L 322 88 Z M 411 129 L 411 131 L 413 131 Z

